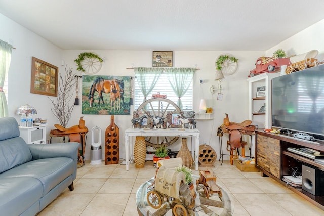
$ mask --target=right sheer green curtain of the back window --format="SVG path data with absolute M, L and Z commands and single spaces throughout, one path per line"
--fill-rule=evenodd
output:
M 188 91 L 196 68 L 166 68 L 166 74 L 174 93 L 178 97 L 177 105 L 183 110 L 181 97 Z

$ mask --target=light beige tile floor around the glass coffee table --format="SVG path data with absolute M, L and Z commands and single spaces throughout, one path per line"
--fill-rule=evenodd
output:
M 130 165 L 86 165 L 77 169 L 74 190 L 66 189 L 38 216 L 137 215 L 135 195 L 139 186 L 154 177 L 152 161 L 144 168 Z M 324 215 L 324 211 L 260 172 L 241 172 L 229 161 L 215 163 L 217 184 L 231 197 L 233 215 Z M 193 174 L 198 174 L 193 171 Z

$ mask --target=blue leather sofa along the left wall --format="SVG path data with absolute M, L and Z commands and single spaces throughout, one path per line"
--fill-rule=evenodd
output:
M 79 143 L 26 144 L 15 118 L 0 118 L 0 215 L 35 215 L 73 190 Z

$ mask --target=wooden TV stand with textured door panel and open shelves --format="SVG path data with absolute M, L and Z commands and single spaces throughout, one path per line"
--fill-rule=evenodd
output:
M 315 142 L 319 143 L 316 144 L 310 141 L 296 139 L 289 135 L 271 134 L 261 130 L 256 131 L 255 139 L 256 167 L 261 171 L 263 177 L 269 176 L 281 184 L 286 185 L 286 182 L 282 181 L 282 178 L 287 175 L 291 176 L 293 167 L 297 167 L 297 172 L 300 173 L 302 171 L 302 164 L 316 167 L 324 171 L 324 165 L 315 163 L 312 159 L 308 159 L 307 157 L 287 150 L 288 147 L 305 147 L 323 153 L 324 142 L 318 142 L 316 140 Z M 324 187 L 324 185 L 319 185 L 318 187 Z M 324 210 L 324 195 L 314 196 L 301 187 L 291 188 L 291 190 Z

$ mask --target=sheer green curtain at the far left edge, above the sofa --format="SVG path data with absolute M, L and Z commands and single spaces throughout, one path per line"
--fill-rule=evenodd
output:
M 2 88 L 9 71 L 11 51 L 12 45 L 0 40 L 0 117 L 8 116 L 7 99 Z

